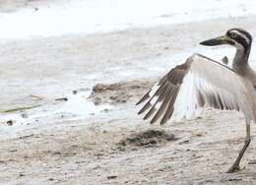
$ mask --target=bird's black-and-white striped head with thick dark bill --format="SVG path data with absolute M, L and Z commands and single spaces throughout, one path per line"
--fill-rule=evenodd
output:
M 200 42 L 202 45 L 214 46 L 229 44 L 237 49 L 247 50 L 251 47 L 252 36 L 242 29 L 230 29 L 224 35 Z

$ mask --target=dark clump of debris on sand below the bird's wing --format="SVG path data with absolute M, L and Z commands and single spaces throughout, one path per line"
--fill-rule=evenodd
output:
M 166 133 L 163 130 L 147 130 L 130 135 L 128 138 L 121 140 L 117 145 L 121 151 L 124 151 L 122 147 L 155 147 L 166 142 L 175 141 L 175 135 L 172 133 Z

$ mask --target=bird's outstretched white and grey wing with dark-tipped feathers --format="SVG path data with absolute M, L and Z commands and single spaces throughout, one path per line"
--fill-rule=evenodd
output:
M 171 69 L 137 104 L 144 119 L 188 118 L 204 106 L 239 111 L 238 96 L 246 93 L 242 79 L 227 66 L 200 54 Z

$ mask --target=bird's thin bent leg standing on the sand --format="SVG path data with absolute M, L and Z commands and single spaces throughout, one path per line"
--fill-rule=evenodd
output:
M 250 145 L 250 142 L 251 142 L 250 132 L 251 132 L 250 120 L 246 119 L 246 138 L 245 138 L 244 146 L 243 146 L 242 150 L 240 151 L 240 153 L 238 154 L 238 156 L 237 156 L 236 160 L 234 161 L 234 163 L 227 170 L 227 173 L 232 173 L 232 172 L 237 171 L 237 170 L 240 169 L 240 167 L 239 167 L 240 160 L 241 160 L 244 152 L 246 151 L 247 147 Z

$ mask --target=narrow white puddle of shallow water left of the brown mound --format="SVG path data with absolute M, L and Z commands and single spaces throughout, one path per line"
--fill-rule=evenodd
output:
M 60 122 L 81 120 L 114 108 L 109 104 L 95 105 L 87 98 L 90 93 L 91 91 L 78 92 L 67 95 L 67 101 L 52 100 L 32 109 L 0 113 L 0 135 L 2 138 L 16 137 L 27 129 L 45 127 L 51 124 L 52 119 Z M 8 126 L 7 121 L 12 121 L 12 124 Z

